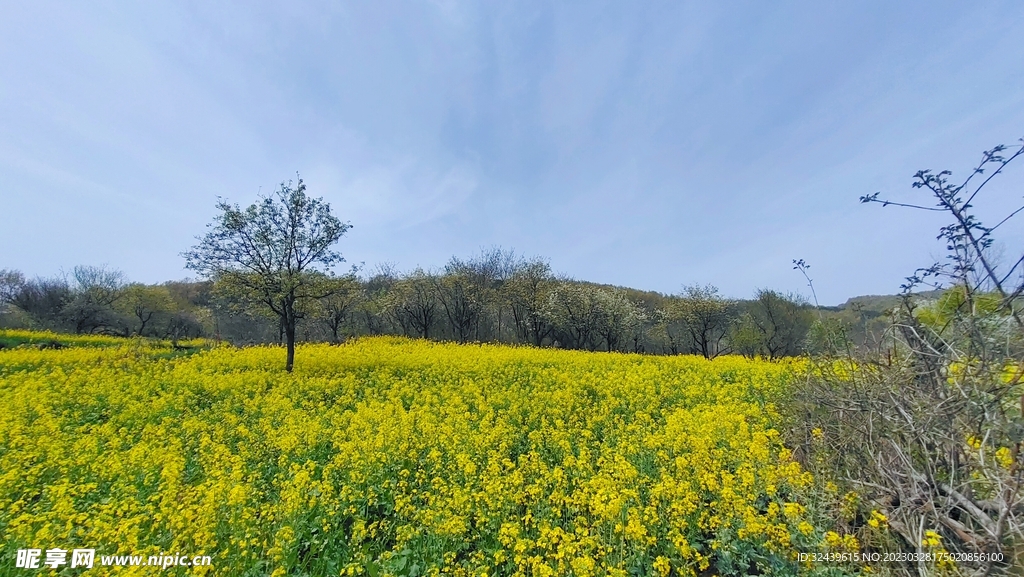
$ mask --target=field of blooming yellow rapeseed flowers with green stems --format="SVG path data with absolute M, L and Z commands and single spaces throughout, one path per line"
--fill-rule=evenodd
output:
M 379 337 L 289 374 L 278 347 L 106 344 L 0 349 L 0 573 L 93 547 L 213 560 L 164 574 L 795 574 L 827 546 L 773 428 L 796 362 Z

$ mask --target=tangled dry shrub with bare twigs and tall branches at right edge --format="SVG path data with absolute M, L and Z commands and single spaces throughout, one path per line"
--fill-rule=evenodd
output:
M 948 258 L 908 279 L 882 345 L 831 347 L 791 405 L 797 453 L 822 487 L 846 495 L 829 500 L 822 490 L 819 513 L 857 534 L 864 551 L 918 553 L 874 564 L 883 572 L 994 575 L 1024 567 L 1024 256 L 1000 270 L 991 254 L 992 233 L 1021 209 L 988 228 L 971 204 L 1024 153 L 1005 150 L 984 153 L 958 186 L 948 171 L 919 172 L 914 187 L 930 191 L 935 207 L 861 199 L 952 216 L 939 236 Z M 937 301 L 913 296 L 928 282 L 947 287 Z

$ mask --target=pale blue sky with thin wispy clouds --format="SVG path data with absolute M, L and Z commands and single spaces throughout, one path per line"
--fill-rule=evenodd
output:
M 368 267 L 500 245 L 749 297 L 808 294 L 805 258 L 822 303 L 892 293 L 944 220 L 857 198 L 1024 136 L 1021 38 L 1016 1 L 10 3 L 0 269 L 183 278 L 218 196 L 298 172 Z

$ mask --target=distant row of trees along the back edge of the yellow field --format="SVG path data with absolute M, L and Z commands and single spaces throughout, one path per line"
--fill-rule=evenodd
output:
M 440 270 L 306 275 L 311 297 L 295 304 L 296 338 L 341 342 L 360 335 L 406 335 L 458 342 L 503 342 L 657 355 L 800 355 L 815 308 L 799 296 L 758 290 L 750 300 L 714 286 L 665 295 L 573 280 L 542 258 L 493 248 L 452 257 Z M 75 333 L 237 344 L 284 342 L 278 315 L 223 279 L 130 283 L 105 266 L 28 279 L 0 271 L 0 322 Z

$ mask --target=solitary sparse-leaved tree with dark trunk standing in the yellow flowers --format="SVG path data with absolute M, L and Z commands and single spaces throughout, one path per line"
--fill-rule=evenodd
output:
M 291 371 L 303 303 L 328 292 L 324 279 L 344 260 L 331 247 L 351 224 L 331 214 L 324 199 L 307 197 L 301 178 L 294 189 L 291 181 L 282 182 L 245 210 L 223 200 L 217 209 L 210 231 L 183 253 L 187 267 L 276 316 L 288 345 L 285 369 Z

